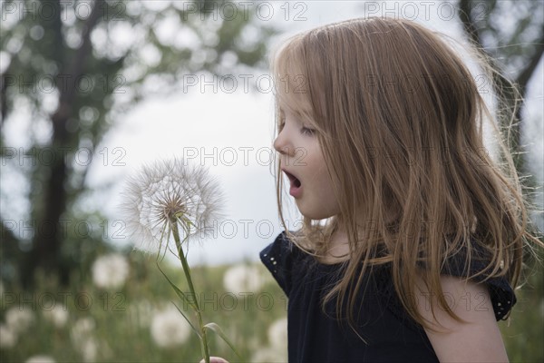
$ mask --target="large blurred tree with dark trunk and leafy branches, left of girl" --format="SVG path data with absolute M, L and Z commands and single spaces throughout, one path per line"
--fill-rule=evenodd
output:
M 30 286 L 40 269 L 67 284 L 74 261 L 65 252 L 71 241 L 84 243 L 73 229 L 88 223 L 75 225 L 73 206 L 87 190 L 92 157 L 122 156 L 96 150 L 117 116 L 145 95 L 171 93 L 184 75 L 258 65 L 275 31 L 255 25 L 254 8 L 220 1 L 1 6 L 0 272 Z M 16 128 L 25 140 L 10 140 Z M 24 195 L 6 189 L 15 184 Z

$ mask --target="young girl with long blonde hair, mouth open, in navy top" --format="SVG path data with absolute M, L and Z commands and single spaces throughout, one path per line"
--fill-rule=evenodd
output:
M 540 242 L 509 153 L 484 152 L 497 120 L 459 56 L 373 18 L 296 35 L 272 70 L 279 171 L 304 216 L 261 252 L 289 299 L 289 362 L 508 361 L 496 321 Z

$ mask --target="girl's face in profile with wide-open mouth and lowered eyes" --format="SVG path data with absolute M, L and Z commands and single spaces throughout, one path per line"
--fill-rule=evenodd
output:
M 274 148 L 280 153 L 281 170 L 289 178 L 289 194 L 307 218 L 323 220 L 338 214 L 340 207 L 315 130 L 296 113 L 284 111 L 284 115 Z

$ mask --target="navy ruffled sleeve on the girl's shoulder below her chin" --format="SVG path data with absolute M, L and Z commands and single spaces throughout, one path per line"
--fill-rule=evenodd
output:
M 260 259 L 270 271 L 287 297 L 291 290 L 291 267 L 293 261 L 293 243 L 287 239 L 286 232 L 281 232 L 274 242 L 260 252 Z

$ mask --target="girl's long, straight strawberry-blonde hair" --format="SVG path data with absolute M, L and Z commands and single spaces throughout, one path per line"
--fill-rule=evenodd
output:
M 504 115 L 486 106 L 451 44 L 413 22 L 355 19 L 297 34 L 271 64 L 277 111 L 289 108 L 316 126 L 341 211 L 325 223 L 305 218 L 289 237 L 318 257 L 337 229 L 349 242 L 343 278 L 324 304 L 337 298 L 338 316 L 351 324 L 364 274 L 387 263 L 416 322 L 429 327 L 413 309 L 418 280 L 458 319 L 440 275 L 460 251 L 467 280 L 504 276 L 517 285 L 526 242 L 541 242 L 528 231 L 520 182 L 498 128 L 499 162 L 483 144 L 484 121 L 496 125 Z M 499 99 L 500 90 L 491 88 L 495 71 L 483 61 L 480 67 Z M 474 250 L 485 252 L 485 267 L 475 273 L 468 269 Z

